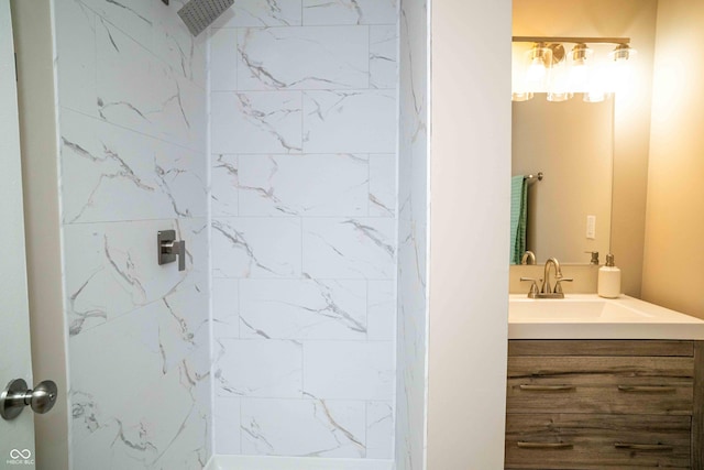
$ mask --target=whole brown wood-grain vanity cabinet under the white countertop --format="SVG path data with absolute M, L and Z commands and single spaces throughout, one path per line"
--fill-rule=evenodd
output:
M 509 340 L 506 469 L 704 470 L 704 341 Z

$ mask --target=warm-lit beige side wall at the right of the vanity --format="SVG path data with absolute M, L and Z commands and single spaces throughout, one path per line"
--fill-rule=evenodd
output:
M 704 2 L 658 10 L 644 299 L 704 318 Z

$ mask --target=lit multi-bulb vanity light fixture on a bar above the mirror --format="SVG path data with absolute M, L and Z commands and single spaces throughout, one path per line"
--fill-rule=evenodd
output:
M 514 101 L 527 101 L 535 92 L 546 92 L 553 102 L 566 101 L 575 92 L 587 102 L 603 101 L 627 85 L 636 55 L 629 37 L 514 36 L 513 42 L 532 43 L 522 69 L 513 73 Z M 563 43 L 573 44 L 566 54 Z M 610 53 L 604 51 L 608 44 L 615 46 Z

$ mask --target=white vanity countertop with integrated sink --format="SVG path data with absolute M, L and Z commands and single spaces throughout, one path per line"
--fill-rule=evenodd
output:
M 508 304 L 508 339 L 704 340 L 704 320 L 626 295 L 532 299 L 512 294 Z

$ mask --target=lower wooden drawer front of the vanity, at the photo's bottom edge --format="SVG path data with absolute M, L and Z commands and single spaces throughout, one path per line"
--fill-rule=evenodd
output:
M 690 468 L 686 416 L 508 415 L 506 469 Z

